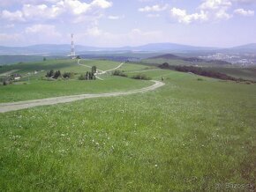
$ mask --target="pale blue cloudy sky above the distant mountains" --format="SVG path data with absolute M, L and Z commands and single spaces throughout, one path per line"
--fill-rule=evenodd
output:
M 256 42 L 256 0 L 1 0 L 0 45 Z

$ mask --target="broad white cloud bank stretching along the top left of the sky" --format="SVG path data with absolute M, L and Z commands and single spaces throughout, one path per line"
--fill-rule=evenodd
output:
M 81 22 L 84 19 L 86 20 L 86 17 L 94 16 L 97 18 L 101 15 L 101 10 L 112 6 L 112 3 L 107 0 L 94 0 L 90 4 L 81 0 L 48 0 L 42 2 L 50 4 L 24 4 L 19 11 L 4 10 L 0 12 L 0 18 L 11 21 L 31 21 L 67 16 L 66 18 Z

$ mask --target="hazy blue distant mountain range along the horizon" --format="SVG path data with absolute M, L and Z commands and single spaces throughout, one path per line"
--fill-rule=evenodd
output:
M 75 46 L 77 55 L 87 52 L 231 52 L 231 53 L 253 53 L 256 52 L 256 43 L 242 45 L 234 48 L 207 48 L 181 45 L 176 43 L 151 43 L 137 47 L 121 48 L 97 48 L 77 45 Z M 68 44 L 42 44 L 26 47 L 4 47 L 0 46 L 0 55 L 69 55 L 71 46 Z

